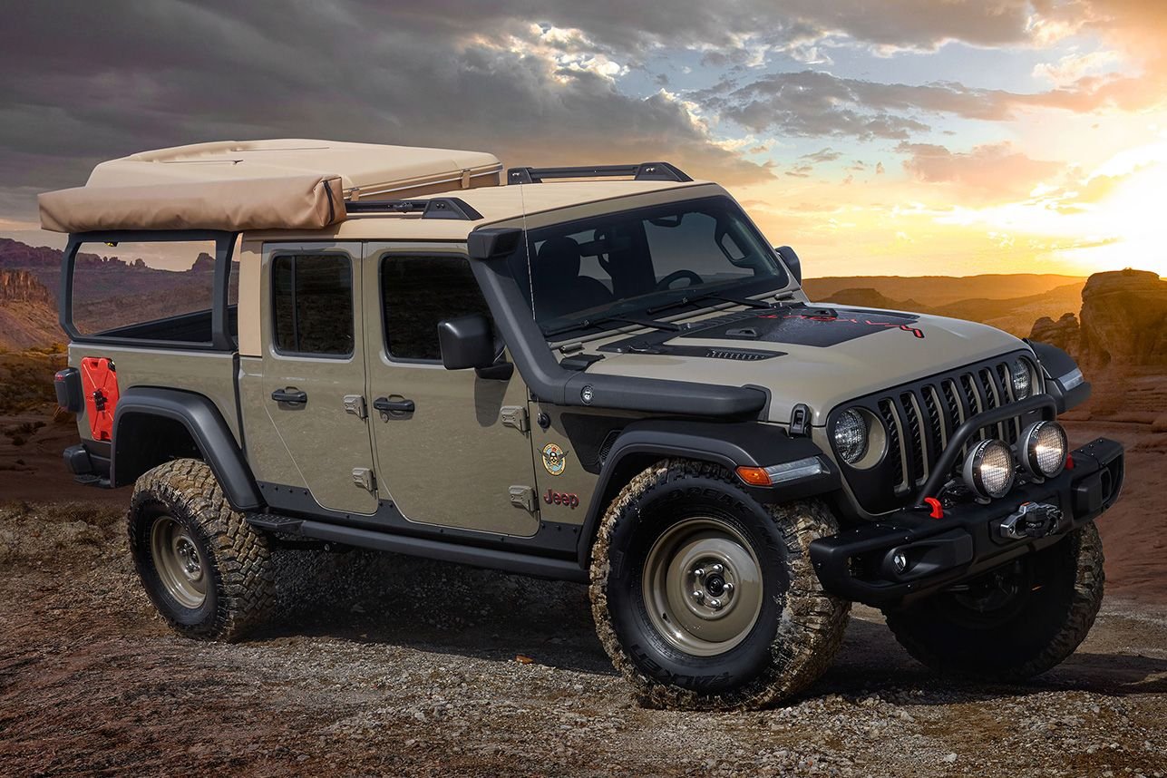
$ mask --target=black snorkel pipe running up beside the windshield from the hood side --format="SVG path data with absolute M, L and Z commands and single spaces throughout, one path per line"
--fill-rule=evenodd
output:
M 470 267 L 490 307 L 511 358 L 531 392 L 546 402 L 691 416 L 756 418 L 769 398 L 756 387 L 692 381 L 591 376 L 566 370 L 555 360 L 531 316 L 531 308 L 506 266 L 505 255 L 483 257 L 505 238 L 518 245 L 518 230 L 484 229 L 470 233 Z M 480 246 L 478 244 L 483 244 Z M 585 392 L 585 387 L 587 391 Z

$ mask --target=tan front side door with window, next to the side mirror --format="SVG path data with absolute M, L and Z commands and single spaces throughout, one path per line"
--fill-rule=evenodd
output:
M 491 379 L 441 364 L 438 322 L 487 314 L 469 260 L 441 244 L 369 244 L 364 257 L 368 394 L 382 498 L 411 521 L 534 534 L 526 386 L 517 372 Z

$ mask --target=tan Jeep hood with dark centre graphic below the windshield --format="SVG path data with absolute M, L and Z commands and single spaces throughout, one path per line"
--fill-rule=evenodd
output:
M 822 426 L 841 402 L 1028 349 L 985 324 L 841 306 L 748 310 L 684 327 L 609 339 L 587 372 L 760 386 L 770 392 L 771 421 L 789 421 L 805 402 Z

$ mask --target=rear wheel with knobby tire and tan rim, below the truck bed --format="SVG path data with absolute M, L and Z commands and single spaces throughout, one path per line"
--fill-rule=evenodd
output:
M 231 509 L 204 462 L 174 460 L 142 475 L 127 518 L 134 567 L 176 632 L 231 642 L 267 616 L 268 540 Z

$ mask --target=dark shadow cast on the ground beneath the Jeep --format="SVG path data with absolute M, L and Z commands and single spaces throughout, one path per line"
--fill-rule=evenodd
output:
M 614 675 L 595 636 L 586 587 L 392 554 L 277 555 L 279 605 L 261 636 L 331 637 L 494 661 L 530 657 Z M 1096 630 L 1107 629 L 1106 619 Z M 1019 698 L 1050 691 L 1167 692 L 1167 659 L 1083 649 L 1023 684 L 941 678 L 896 643 L 879 611 L 857 608 L 831 670 L 803 695 L 913 693 L 913 705 Z

